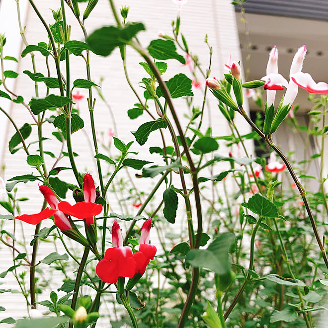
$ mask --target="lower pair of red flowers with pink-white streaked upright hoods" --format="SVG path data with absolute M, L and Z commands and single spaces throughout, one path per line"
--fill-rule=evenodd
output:
M 133 278 L 135 274 L 143 275 L 150 260 L 154 259 L 156 246 L 149 245 L 152 219 L 147 220 L 141 230 L 139 251 L 132 253 L 129 246 L 123 246 L 120 226 L 114 221 L 112 226 L 112 245 L 105 252 L 104 259 L 96 266 L 98 277 L 107 283 L 114 284 L 119 277 Z

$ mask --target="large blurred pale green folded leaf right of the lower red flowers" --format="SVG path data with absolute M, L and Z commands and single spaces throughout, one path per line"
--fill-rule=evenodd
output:
M 204 267 L 217 274 L 225 274 L 230 270 L 229 248 L 234 242 L 234 234 L 223 233 L 207 249 L 191 249 L 186 260 L 194 267 Z

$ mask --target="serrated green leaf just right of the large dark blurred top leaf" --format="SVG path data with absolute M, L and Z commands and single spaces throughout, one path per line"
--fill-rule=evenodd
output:
M 177 59 L 182 64 L 186 63 L 183 56 L 176 52 L 176 47 L 172 40 L 153 40 L 148 46 L 148 51 L 156 59 Z

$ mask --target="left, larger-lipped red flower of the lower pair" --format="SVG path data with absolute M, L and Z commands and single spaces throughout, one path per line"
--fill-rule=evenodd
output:
M 136 273 L 137 265 L 131 248 L 123 246 L 120 226 L 116 220 L 112 226 L 112 244 L 114 247 L 106 250 L 104 259 L 96 266 L 98 277 L 110 284 L 116 283 L 118 277 L 132 278 Z

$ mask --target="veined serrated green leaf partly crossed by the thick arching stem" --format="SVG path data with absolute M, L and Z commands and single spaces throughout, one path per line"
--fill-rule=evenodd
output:
M 182 73 L 175 75 L 172 79 L 165 81 L 165 83 L 171 94 L 171 98 L 194 95 L 191 91 L 192 81 Z M 159 97 L 163 97 L 160 86 L 157 88 L 156 93 Z

